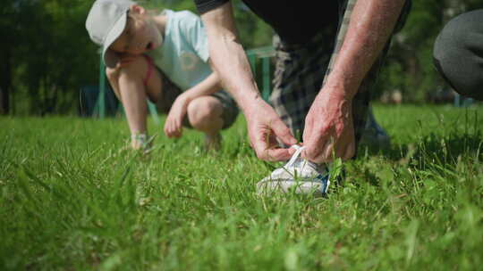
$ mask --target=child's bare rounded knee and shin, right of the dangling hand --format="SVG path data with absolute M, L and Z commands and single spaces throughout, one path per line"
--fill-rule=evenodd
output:
M 223 105 L 213 96 L 201 96 L 188 104 L 188 119 L 195 129 L 205 133 L 208 148 L 217 149 L 223 127 Z

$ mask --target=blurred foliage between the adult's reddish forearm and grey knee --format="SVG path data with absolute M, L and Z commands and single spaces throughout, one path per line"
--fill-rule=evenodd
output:
M 402 31 L 393 38 L 376 94 L 399 89 L 406 102 L 422 102 L 428 93 L 449 88 L 433 64 L 433 45 L 439 31 L 454 16 L 483 8 L 480 1 L 412 1 Z

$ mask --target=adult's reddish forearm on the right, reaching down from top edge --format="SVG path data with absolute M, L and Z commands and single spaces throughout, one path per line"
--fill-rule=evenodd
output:
M 359 0 L 326 86 L 351 99 L 385 47 L 404 0 Z

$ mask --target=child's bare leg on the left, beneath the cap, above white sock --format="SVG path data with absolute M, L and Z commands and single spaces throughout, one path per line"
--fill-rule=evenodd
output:
M 147 86 L 144 80 L 148 73 L 148 62 L 143 56 L 137 57 L 124 67 L 117 69 L 106 69 L 107 78 L 113 86 L 114 93 L 123 103 L 124 112 L 131 136 L 147 135 L 147 103 L 149 96 L 157 99 L 161 94 L 161 77 L 156 69 L 148 79 Z M 138 140 L 131 140 L 134 149 L 140 148 Z

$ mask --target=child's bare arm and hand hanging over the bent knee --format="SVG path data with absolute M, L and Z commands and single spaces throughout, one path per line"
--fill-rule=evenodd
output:
M 221 82 L 216 72 L 212 72 L 207 78 L 180 94 L 173 105 L 165 121 L 165 134 L 168 137 L 182 136 L 182 119 L 188 110 L 188 104 L 200 96 L 214 94 L 221 89 Z

